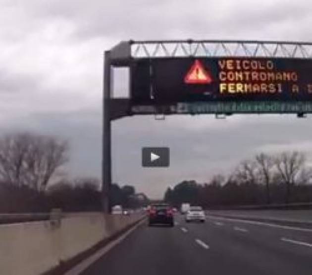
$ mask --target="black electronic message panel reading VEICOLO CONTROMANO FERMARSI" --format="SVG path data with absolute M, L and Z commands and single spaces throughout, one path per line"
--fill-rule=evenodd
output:
M 312 101 L 312 59 L 157 58 L 131 65 L 134 104 Z

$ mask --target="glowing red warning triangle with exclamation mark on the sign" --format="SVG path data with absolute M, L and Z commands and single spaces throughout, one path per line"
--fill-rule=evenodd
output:
M 205 70 L 199 60 L 195 60 L 192 68 L 184 77 L 184 82 L 187 84 L 209 84 L 212 82 L 212 77 Z

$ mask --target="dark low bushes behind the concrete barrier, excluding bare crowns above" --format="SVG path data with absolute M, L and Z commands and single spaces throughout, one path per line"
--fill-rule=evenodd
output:
M 149 199 L 137 194 L 131 185 L 111 187 L 111 206 L 124 208 L 147 206 Z M 100 181 L 96 178 L 60 180 L 45 191 L 29 186 L 0 183 L 0 213 L 50 212 L 52 208 L 71 211 L 102 211 Z

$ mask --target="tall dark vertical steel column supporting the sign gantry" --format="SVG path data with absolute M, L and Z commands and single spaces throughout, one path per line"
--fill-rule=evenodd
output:
M 102 206 L 104 213 L 110 212 L 111 187 L 111 121 L 110 121 L 110 52 L 104 52 L 103 87 L 103 157 L 102 157 Z

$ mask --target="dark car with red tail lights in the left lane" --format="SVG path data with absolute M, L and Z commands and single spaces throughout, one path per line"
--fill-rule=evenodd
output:
M 149 210 L 149 226 L 155 223 L 174 226 L 173 211 L 167 204 L 152 205 Z

